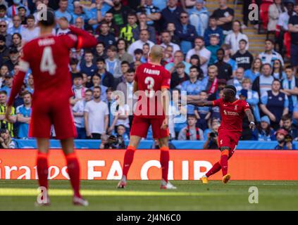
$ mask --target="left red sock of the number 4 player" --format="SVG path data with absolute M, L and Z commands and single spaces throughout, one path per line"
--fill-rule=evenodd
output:
M 40 187 L 48 188 L 48 155 L 38 153 L 37 155 L 37 175 Z

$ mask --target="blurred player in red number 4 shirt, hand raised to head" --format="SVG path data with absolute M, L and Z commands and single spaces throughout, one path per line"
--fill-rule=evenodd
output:
M 80 166 L 73 150 L 76 131 L 70 112 L 71 76 L 68 70 L 70 49 L 96 46 L 97 40 L 89 33 L 69 27 L 73 34 L 53 36 L 56 26 L 53 11 L 47 11 L 46 20 L 39 20 L 40 37 L 23 47 L 20 60 L 20 72 L 13 79 L 11 96 L 8 101 L 6 117 L 11 111 L 15 96 L 20 91 L 25 73 L 29 68 L 34 77 L 35 93 L 32 101 L 32 115 L 29 135 L 37 138 L 37 174 L 39 186 L 48 188 L 48 152 L 51 124 L 54 124 L 56 138 L 61 140 L 66 156 L 70 183 L 73 187 L 73 204 L 88 205 L 80 195 Z M 58 20 L 61 29 L 67 29 L 66 20 Z M 47 193 L 47 191 L 46 191 Z M 47 195 L 46 195 L 47 196 Z M 43 198 L 39 205 L 49 205 L 49 198 Z

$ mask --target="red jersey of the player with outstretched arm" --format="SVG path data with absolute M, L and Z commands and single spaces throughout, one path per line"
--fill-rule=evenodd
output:
M 249 110 L 249 104 L 244 100 L 237 99 L 233 103 L 225 103 L 223 98 L 213 101 L 213 106 L 218 106 L 221 112 L 221 130 L 242 132 L 242 120 L 245 110 Z

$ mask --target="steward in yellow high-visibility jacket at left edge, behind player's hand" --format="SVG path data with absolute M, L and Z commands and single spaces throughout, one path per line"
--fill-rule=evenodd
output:
M 14 124 L 16 122 L 15 108 L 11 107 L 11 115 L 8 117 L 8 121 L 5 119 L 6 107 L 7 107 L 7 94 L 6 91 L 0 91 L 0 129 L 8 129 L 11 137 L 14 137 Z

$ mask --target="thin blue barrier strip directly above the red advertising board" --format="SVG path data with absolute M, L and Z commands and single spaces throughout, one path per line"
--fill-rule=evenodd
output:
M 34 139 L 19 140 L 16 139 L 18 148 L 37 148 Z M 75 148 L 77 149 L 97 149 L 101 141 L 96 140 L 75 140 Z M 128 145 L 128 141 L 125 142 Z M 171 141 L 175 149 L 202 149 L 205 141 Z M 298 146 L 298 141 L 294 142 Z M 237 149 L 274 149 L 278 144 L 277 141 L 240 141 Z M 139 148 L 151 149 L 153 141 L 141 141 Z M 59 141 L 51 140 L 51 148 L 61 148 Z

